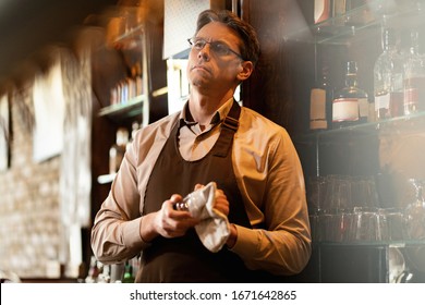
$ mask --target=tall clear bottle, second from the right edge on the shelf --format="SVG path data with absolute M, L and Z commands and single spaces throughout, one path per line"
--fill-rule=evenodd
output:
M 377 121 L 403 114 L 403 59 L 392 28 L 382 32 L 382 52 L 374 66 L 374 96 Z

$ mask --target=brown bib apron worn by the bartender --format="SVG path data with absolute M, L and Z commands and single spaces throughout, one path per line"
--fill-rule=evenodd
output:
M 180 124 L 175 124 L 149 178 L 143 215 L 159 210 L 172 194 L 185 196 L 193 192 L 196 183 L 206 185 L 215 181 L 230 203 L 229 221 L 251 228 L 232 167 L 231 149 L 240 112 L 241 108 L 233 101 L 221 124 L 218 141 L 204 158 L 196 161 L 181 157 L 178 148 Z M 181 237 L 156 237 L 142 253 L 142 268 L 136 281 L 257 282 L 258 276 L 246 269 L 242 259 L 226 246 L 218 253 L 209 252 L 191 229 Z

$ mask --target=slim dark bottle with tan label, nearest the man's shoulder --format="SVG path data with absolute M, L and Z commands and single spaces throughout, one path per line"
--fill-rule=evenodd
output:
M 321 74 L 309 95 L 309 129 L 328 129 L 328 105 L 330 103 L 330 89 L 328 84 L 328 68 L 321 69 Z

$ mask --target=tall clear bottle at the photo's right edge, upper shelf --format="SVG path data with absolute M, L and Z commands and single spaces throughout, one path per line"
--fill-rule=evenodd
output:
M 410 52 L 404 61 L 404 114 L 425 110 L 425 57 L 420 53 L 417 30 L 411 33 Z

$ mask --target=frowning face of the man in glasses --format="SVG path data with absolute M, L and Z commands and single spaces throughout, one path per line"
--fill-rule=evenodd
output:
M 240 38 L 226 25 L 211 22 L 197 33 L 195 39 L 207 42 L 221 41 L 228 48 L 240 53 Z M 187 77 L 192 87 L 203 90 L 227 91 L 238 83 L 238 73 L 242 71 L 242 60 L 233 52 L 219 54 L 206 44 L 201 50 L 192 48 L 189 56 Z

